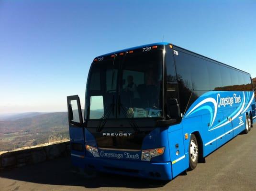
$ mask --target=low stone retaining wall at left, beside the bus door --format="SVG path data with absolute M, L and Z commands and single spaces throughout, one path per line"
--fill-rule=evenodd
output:
M 35 146 L 33 148 L 17 149 L 0 154 L 0 170 L 36 164 L 45 160 L 70 155 L 70 141 Z

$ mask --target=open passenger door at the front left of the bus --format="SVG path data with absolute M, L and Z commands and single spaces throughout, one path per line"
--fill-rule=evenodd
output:
M 67 111 L 71 144 L 71 161 L 74 166 L 84 169 L 84 124 L 78 95 L 67 96 Z

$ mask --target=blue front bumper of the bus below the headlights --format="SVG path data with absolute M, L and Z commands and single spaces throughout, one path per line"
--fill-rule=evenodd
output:
M 102 159 L 85 157 L 85 170 L 136 176 L 156 180 L 171 180 L 170 162 L 145 162 L 136 160 Z

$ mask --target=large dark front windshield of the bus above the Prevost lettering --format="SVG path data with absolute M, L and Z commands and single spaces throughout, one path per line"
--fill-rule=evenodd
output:
M 163 53 L 127 53 L 94 62 L 89 73 L 89 119 L 162 117 Z

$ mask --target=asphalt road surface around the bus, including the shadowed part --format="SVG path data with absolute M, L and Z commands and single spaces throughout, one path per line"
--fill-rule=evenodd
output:
M 256 124 L 206 157 L 195 170 L 171 181 L 99 174 L 85 179 L 71 172 L 70 158 L 0 172 L 0 191 L 256 191 Z

